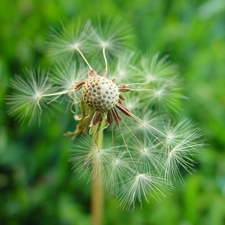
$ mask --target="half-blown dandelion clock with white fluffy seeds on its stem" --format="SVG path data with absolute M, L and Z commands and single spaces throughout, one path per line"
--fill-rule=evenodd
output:
M 188 120 L 172 122 L 171 113 L 178 112 L 184 98 L 177 67 L 159 53 L 140 57 L 122 51 L 128 37 L 118 21 L 97 27 L 91 21 L 63 25 L 51 35 L 56 75 L 50 81 L 49 74 L 27 71 L 26 80 L 12 82 L 17 92 L 7 98 L 10 114 L 30 122 L 42 115 L 42 108 L 67 101 L 77 122 L 64 135 L 71 140 L 83 135 L 72 151 L 73 168 L 93 182 L 93 196 L 99 195 L 93 202 L 101 202 L 104 187 L 122 208 L 165 196 L 174 178 L 183 182 L 180 167 L 192 171 L 193 156 L 203 145 L 199 130 Z M 96 224 L 99 220 L 94 219 Z

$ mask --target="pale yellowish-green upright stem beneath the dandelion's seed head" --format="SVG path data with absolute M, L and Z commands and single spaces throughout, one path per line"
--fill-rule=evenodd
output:
M 103 146 L 103 123 L 100 125 L 100 131 L 97 134 L 93 134 L 92 138 L 97 144 L 100 151 Z M 93 175 L 92 175 L 92 224 L 101 225 L 103 218 L 103 205 L 104 205 L 104 193 L 102 187 L 102 162 L 93 162 Z

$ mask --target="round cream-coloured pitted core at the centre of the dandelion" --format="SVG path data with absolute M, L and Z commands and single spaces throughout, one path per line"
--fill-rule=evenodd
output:
M 99 75 L 90 77 L 82 86 L 83 101 L 92 109 L 107 112 L 119 100 L 119 89 L 111 81 Z

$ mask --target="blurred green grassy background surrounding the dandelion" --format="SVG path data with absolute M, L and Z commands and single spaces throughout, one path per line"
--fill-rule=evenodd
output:
M 120 17 L 136 47 L 170 55 L 184 79 L 181 114 L 198 123 L 207 146 L 186 186 L 161 202 L 121 211 L 105 199 L 104 224 L 225 224 L 225 1 L 224 0 L 1 0 L 0 1 L 0 224 L 90 224 L 90 185 L 68 162 L 74 129 L 68 114 L 40 127 L 7 115 L 10 78 L 25 67 L 48 68 L 47 33 L 60 20 Z

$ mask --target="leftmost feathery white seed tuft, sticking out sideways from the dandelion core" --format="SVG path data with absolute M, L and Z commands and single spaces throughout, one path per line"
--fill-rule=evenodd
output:
M 42 109 L 49 108 L 48 102 L 51 95 L 56 91 L 49 78 L 49 73 L 38 70 L 25 70 L 24 77 L 16 76 L 11 80 L 10 86 L 13 94 L 8 96 L 7 104 L 11 106 L 10 115 L 17 116 L 17 119 L 28 124 L 40 122 Z

